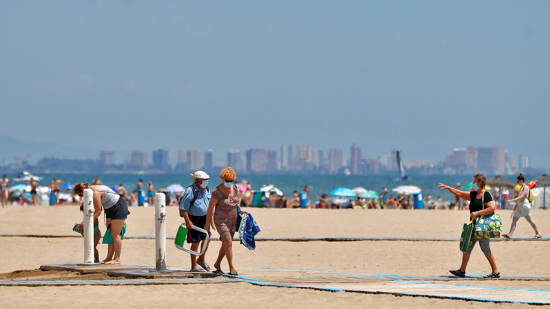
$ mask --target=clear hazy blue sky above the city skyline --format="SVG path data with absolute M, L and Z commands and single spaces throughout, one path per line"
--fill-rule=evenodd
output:
M 548 16 L 548 1 L 3 1 L 0 135 L 217 160 L 487 145 L 548 167 Z

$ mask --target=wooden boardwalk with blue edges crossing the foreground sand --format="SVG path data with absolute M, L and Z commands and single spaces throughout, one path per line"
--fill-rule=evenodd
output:
M 147 267 L 147 266 L 127 266 Z M 101 269 L 98 269 L 98 271 Z M 179 268 L 172 268 L 176 272 Z M 89 272 L 89 271 L 85 271 Z M 309 269 L 239 268 L 241 276 L 218 278 L 155 278 L 155 279 L 109 279 L 109 280 L 2 280 L 0 286 L 66 286 L 66 285 L 165 285 L 165 284 L 212 284 L 248 282 L 258 286 L 313 289 L 319 291 L 344 291 L 362 294 L 390 294 L 396 296 L 430 297 L 485 302 L 519 302 L 531 305 L 550 305 L 550 290 L 510 289 L 476 285 L 481 277 L 456 278 L 415 277 L 395 274 L 345 273 L 313 271 Z M 463 281 L 446 283 L 447 281 Z M 495 280 L 495 279 L 493 279 Z M 532 280 L 548 281 L 550 277 L 503 277 L 495 281 Z

